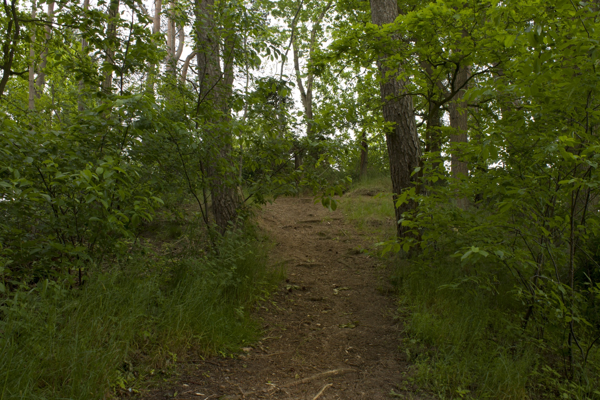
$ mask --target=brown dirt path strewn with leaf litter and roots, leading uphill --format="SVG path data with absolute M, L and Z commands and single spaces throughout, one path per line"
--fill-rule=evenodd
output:
M 356 251 L 368 243 L 341 212 L 312 199 L 278 199 L 265 207 L 261 227 L 277 242 L 271 259 L 287 261 L 288 275 L 275 304 L 256 313 L 264 338 L 240 359 L 203 363 L 160 396 L 389 399 L 406 363 L 392 299 L 377 290 L 377 260 Z

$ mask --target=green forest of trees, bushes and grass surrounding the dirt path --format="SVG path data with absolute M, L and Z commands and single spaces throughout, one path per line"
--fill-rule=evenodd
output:
M 371 398 L 600 399 L 599 2 L 0 7 L 0 400 L 241 360 L 306 197 L 390 287 Z

